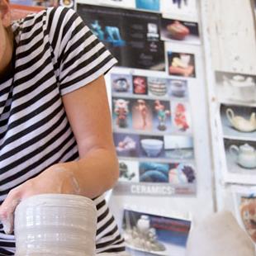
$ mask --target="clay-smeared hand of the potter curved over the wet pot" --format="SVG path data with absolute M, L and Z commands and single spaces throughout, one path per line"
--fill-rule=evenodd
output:
M 0 206 L 0 220 L 5 233 L 13 231 L 13 214 L 20 201 L 45 193 L 78 194 L 79 186 L 73 173 L 63 167 L 51 167 L 12 189 Z

